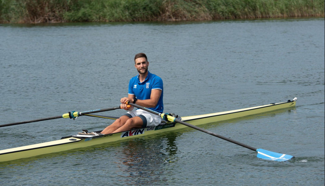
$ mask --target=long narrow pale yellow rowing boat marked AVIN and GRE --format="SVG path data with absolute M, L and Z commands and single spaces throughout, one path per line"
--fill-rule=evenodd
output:
M 270 112 L 278 109 L 295 107 L 296 98 L 292 101 L 281 103 L 271 103 L 268 105 L 249 107 L 225 112 L 216 112 L 211 114 L 185 116 L 181 120 L 191 125 L 201 125 L 212 122 L 220 122 L 234 118 L 240 118 L 249 115 L 255 115 L 265 112 Z M 135 129 L 131 131 L 124 131 L 120 133 L 107 134 L 103 136 L 93 137 L 79 137 L 79 136 L 65 136 L 59 140 L 39 143 L 34 145 L 28 145 L 23 147 L 17 147 L 12 149 L 0 150 L 0 162 L 12 161 L 21 158 L 30 158 L 33 156 L 61 152 L 72 149 L 79 149 L 90 147 L 103 143 L 110 143 L 118 140 L 131 139 L 138 136 L 146 136 L 151 134 L 157 134 L 161 132 L 167 132 L 172 130 L 178 130 L 187 126 L 177 122 L 165 122 L 158 126 L 151 126 L 146 128 Z

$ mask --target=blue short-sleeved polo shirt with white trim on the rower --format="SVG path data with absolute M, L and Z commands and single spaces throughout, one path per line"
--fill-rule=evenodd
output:
M 140 100 L 150 99 L 151 90 L 153 90 L 153 89 L 162 90 L 162 94 L 160 95 L 160 98 L 159 98 L 159 101 L 158 101 L 156 107 L 149 108 L 149 109 L 162 113 L 162 111 L 163 111 L 162 79 L 155 74 L 151 74 L 149 71 L 148 71 L 148 75 L 147 75 L 146 79 L 142 83 L 140 83 L 139 75 L 130 79 L 129 94 L 135 95 L 137 99 L 140 99 Z

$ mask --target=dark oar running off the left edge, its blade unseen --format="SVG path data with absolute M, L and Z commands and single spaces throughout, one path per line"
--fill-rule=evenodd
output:
M 8 124 L 2 124 L 0 127 L 6 127 L 6 126 L 11 126 L 11 125 L 19 125 L 19 124 L 24 124 L 24 123 L 32 123 L 32 122 L 40 122 L 40 121 L 45 121 L 45 120 L 53 120 L 53 119 L 58 119 L 58 118 L 77 118 L 78 116 L 83 116 L 86 114 L 92 114 L 96 112 L 105 112 L 105 111 L 110 111 L 110 110 L 116 110 L 120 109 L 121 107 L 111 107 L 111 108 L 103 108 L 103 109 L 97 109 L 97 110 L 90 110 L 90 111 L 85 111 L 85 112 L 76 112 L 76 111 L 71 111 L 66 114 L 60 115 L 60 116 L 53 116 L 53 117 L 48 117 L 48 118 L 41 118 L 41 119 L 36 119 L 36 120 L 28 120 L 24 122 L 15 122 L 15 123 L 8 123 Z

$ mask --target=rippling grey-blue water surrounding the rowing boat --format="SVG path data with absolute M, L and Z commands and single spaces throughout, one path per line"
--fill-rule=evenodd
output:
M 256 152 L 184 129 L 0 163 L 4 185 L 324 185 L 324 18 L 0 25 L 0 123 L 119 105 L 145 52 L 164 81 L 164 112 L 197 115 L 297 106 L 201 127 Z M 122 110 L 101 113 L 120 116 Z M 1 150 L 112 121 L 79 117 L 1 128 Z

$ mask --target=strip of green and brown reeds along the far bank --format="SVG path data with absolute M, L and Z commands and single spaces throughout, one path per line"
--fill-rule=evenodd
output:
M 2 23 L 312 16 L 324 16 L 324 0 L 0 0 Z

